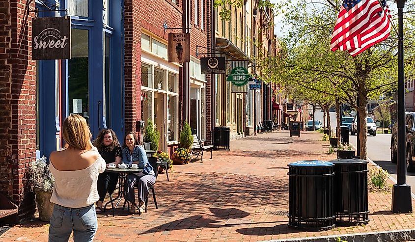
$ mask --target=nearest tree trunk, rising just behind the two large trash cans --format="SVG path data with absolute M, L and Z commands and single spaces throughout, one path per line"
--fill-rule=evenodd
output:
M 367 97 L 364 94 L 358 94 L 359 95 L 359 107 L 357 108 L 357 111 L 359 112 L 359 120 L 358 125 L 360 127 L 360 134 L 359 140 L 360 140 L 360 159 L 366 160 L 367 159 L 367 123 L 366 123 L 366 103 L 367 103 Z

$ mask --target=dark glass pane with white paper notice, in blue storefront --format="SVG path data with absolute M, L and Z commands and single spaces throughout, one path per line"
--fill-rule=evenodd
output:
M 68 60 L 68 108 L 70 114 L 79 114 L 88 122 L 88 30 L 71 31 L 72 58 Z

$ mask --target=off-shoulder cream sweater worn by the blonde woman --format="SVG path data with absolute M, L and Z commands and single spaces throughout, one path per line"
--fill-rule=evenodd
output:
M 94 204 L 99 199 L 98 175 L 105 171 L 105 167 L 101 155 L 91 166 L 82 170 L 56 170 L 49 162 L 49 169 L 55 177 L 51 202 L 67 208 L 83 208 Z

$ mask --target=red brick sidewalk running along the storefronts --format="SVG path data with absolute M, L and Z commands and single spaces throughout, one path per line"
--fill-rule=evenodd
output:
M 369 193 L 367 225 L 303 232 L 287 226 L 287 164 L 300 160 L 335 159 L 327 155 L 322 134 L 306 132 L 290 138 L 287 131 L 231 141 L 231 151 L 214 151 L 199 161 L 175 165 L 160 174 L 155 186 L 159 209 L 149 198 L 148 213 L 117 210 L 98 215 L 97 242 L 233 242 L 340 235 L 414 228 L 415 215 L 390 212 L 391 194 Z M 109 213 L 108 213 L 109 214 Z M 48 224 L 16 225 L 0 242 L 47 241 Z

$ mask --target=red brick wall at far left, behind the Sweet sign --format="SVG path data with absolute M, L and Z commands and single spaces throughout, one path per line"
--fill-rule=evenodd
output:
M 35 159 L 36 67 L 31 60 L 31 20 L 26 0 L 0 2 L 0 191 L 32 215 L 28 182 Z M 34 1 L 31 3 L 34 9 Z

